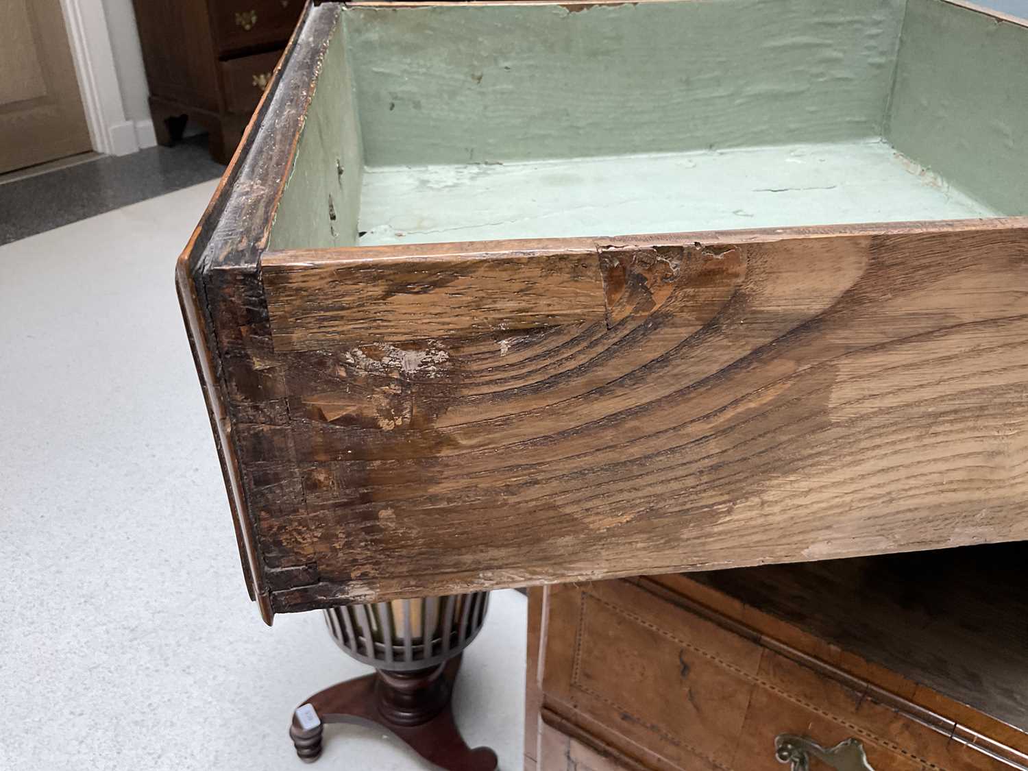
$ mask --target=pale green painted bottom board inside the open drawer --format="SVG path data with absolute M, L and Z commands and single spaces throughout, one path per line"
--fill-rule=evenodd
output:
M 362 246 L 992 217 L 881 140 L 364 172 Z

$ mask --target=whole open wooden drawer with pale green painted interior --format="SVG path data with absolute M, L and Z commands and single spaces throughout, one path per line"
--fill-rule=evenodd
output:
M 252 595 L 1028 538 L 1026 211 L 959 3 L 310 7 L 178 272 Z

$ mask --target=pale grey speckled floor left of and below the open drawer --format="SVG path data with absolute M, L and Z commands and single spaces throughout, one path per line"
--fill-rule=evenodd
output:
M 246 595 L 172 278 L 214 187 L 0 247 L 3 771 L 298 771 L 292 708 L 367 671 L 320 614 L 267 628 Z M 524 633 L 497 592 L 455 694 L 504 771 Z M 326 737 L 324 771 L 426 768 L 380 731 Z

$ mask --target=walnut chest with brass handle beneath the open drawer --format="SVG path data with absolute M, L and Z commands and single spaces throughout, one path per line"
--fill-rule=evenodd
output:
M 534 589 L 526 768 L 775 771 L 783 735 L 876 771 L 1028 768 L 1025 554 Z

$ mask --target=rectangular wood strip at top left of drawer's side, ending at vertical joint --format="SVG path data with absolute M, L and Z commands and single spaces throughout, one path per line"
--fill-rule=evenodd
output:
M 262 262 L 276 351 L 523 332 L 605 313 L 594 249 L 338 263 L 304 256 Z

